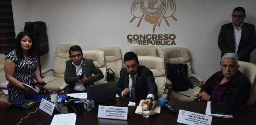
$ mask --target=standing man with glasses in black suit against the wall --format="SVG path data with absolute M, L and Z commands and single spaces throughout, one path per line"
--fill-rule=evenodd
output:
M 218 45 L 221 57 L 235 53 L 239 60 L 250 62 L 250 54 L 256 47 L 255 25 L 244 23 L 245 10 L 237 7 L 232 13 L 232 23 L 221 26 Z

